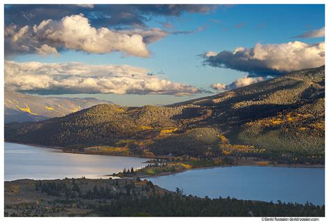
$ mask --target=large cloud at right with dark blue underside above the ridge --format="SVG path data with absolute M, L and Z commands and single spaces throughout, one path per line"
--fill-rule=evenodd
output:
M 203 64 L 248 73 L 248 77 L 280 76 L 287 71 L 319 67 L 325 62 L 325 43 L 256 44 L 234 51 L 209 51 L 201 55 Z

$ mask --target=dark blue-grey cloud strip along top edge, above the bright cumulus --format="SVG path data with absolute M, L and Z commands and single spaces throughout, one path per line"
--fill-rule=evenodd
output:
M 207 5 L 6 5 L 5 24 L 39 24 L 44 19 L 62 19 L 83 13 L 93 26 L 146 26 L 151 16 L 175 16 L 184 12 L 207 13 Z

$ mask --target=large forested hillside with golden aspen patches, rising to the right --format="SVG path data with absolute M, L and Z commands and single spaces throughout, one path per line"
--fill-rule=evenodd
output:
M 160 156 L 324 163 L 325 67 L 167 107 L 96 105 L 5 125 L 6 141 Z

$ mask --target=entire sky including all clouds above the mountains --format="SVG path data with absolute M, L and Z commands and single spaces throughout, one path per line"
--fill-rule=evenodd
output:
M 5 87 L 167 105 L 324 64 L 324 5 L 5 5 Z

